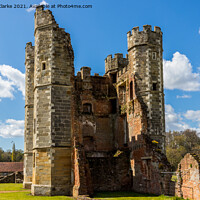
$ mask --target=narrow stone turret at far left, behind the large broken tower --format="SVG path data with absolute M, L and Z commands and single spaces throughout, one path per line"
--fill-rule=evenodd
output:
M 33 81 L 34 81 L 34 47 L 26 45 L 26 95 L 25 95 L 25 127 L 24 127 L 24 188 L 32 184 L 32 150 L 33 150 Z

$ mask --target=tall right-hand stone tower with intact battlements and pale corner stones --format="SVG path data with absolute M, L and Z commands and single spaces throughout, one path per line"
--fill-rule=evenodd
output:
M 129 70 L 134 72 L 136 95 L 147 117 L 146 133 L 165 151 L 162 32 L 150 25 L 127 33 Z

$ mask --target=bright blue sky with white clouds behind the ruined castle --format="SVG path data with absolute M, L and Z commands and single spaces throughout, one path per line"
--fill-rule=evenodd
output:
M 76 72 L 82 66 L 104 74 L 109 54 L 127 53 L 126 33 L 149 24 L 163 32 L 166 130 L 200 132 L 200 1 L 46 0 L 92 8 L 52 8 L 71 34 Z M 39 4 L 41 0 L 0 0 L 0 4 Z M 34 10 L 0 8 L 0 147 L 23 149 L 24 58 L 34 43 Z

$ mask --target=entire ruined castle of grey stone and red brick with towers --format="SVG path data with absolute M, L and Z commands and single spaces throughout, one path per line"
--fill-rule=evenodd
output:
M 35 13 L 26 45 L 24 187 L 33 195 L 134 190 L 170 194 L 165 156 L 162 32 L 128 32 L 128 55 L 105 75 L 74 74 L 69 33 L 51 11 Z

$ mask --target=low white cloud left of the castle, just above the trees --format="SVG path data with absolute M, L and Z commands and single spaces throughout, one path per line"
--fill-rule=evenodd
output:
M 0 123 L 0 136 L 4 138 L 20 137 L 24 135 L 24 120 L 7 119 Z

